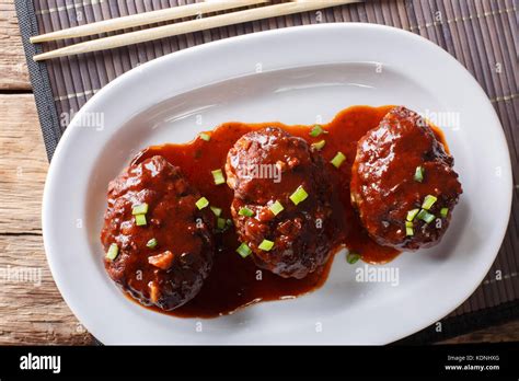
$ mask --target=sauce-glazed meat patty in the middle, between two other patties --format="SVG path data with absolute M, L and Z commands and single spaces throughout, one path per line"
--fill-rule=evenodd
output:
M 326 263 L 333 190 L 305 140 L 272 127 L 245 134 L 229 151 L 226 172 L 237 232 L 258 267 L 303 278 Z

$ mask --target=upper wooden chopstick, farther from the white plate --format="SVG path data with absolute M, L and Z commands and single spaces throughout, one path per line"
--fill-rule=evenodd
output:
M 31 43 L 90 36 L 106 32 L 119 31 L 141 25 L 149 25 L 164 21 L 172 21 L 193 15 L 224 11 L 233 8 L 250 7 L 268 2 L 269 0 L 224 0 L 206 1 L 194 4 L 173 7 L 158 11 L 131 14 L 123 18 L 99 21 L 91 24 L 69 27 L 61 31 L 42 34 L 30 38 Z

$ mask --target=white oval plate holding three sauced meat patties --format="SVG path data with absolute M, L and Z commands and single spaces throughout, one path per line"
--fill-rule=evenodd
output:
M 324 287 L 310 295 L 199 321 L 146 310 L 108 278 L 99 240 L 106 186 L 139 149 L 185 142 L 228 120 L 326 122 L 356 104 L 402 104 L 438 117 L 463 184 L 439 245 L 370 266 L 397 270 L 397 285 L 356 280 L 365 265 L 348 265 L 339 254 Z M 396 28 L 327 24 L 206 44 L 106 85 L 76 115 L 56 150 L 43 229 L 61 295 L 105 344 L 384 344 L 469 298 L 494 262 L 510 204 L 499 120 L 454 58 Z

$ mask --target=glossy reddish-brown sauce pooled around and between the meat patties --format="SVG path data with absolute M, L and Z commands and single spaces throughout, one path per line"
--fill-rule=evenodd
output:
M 335 183 L 344 209 L 342 224 L 346 228 L 343 232 L 344 236 L 339 241 L 349 251 L 359 253 L 362 261 L 382 264 L 393 259 L 400 252 L 381 246 L 368 236 L 351 207 L 349 182 L 357 141 L 369 129 L 377 127 L 391 108 L 392 106 L 353 106 L 346 108 L 338 113 L 331 123 L 323 125 L 328 134 L 316 138 L 309 135 L 313 125 L 286 126 L 277 122 L 262 124 L 224 123 L 208 132 L 211 137 L 210 141 L 197 138 L 184 145 L 153 146 L 143 150 L 135 161 L 154 154 L 163 155 L 172 164 L 181 168 L 188 181 L 209 199 L 211 205 L 223 209 L 223 218 L 231 218 L 232 190 L 228 186 L 215 186 L 211 170 L 223 169 L 229 149 L 242 135 L 254 129 L 275 126 L 304 138 L 309 143 L 324 139 L 326 145 L 321 153 L 325 162 L 328 162 L 337 151 L 343 152 L 347 158 L 339 171 L 330 165 L 330 171 L 334 171 L 331 177 Z M 435 134 L 445 145 L 441 131 L 435 128 Z M 260 301 L 295 298 L 321 287 L 327 278 L 333 262 L 332 256 L 323 269 L 314 272 L 303 279 L 287 279 L 261 270 L 254 265 L 251 257 L 242 258 L 237 254 L 235 249 L 240 243 L 232 229 L 223 234 L 217 234 L 217 243 L 219 249 L 215 264 L 201 291 L 193 300 L 168 312 L 168 314 L 182 318 L 215 318 L 232 313 L 239 308 Z M 345 259 L 344 262 L 347 266 Z M 162 310 L 154 308 L 153 310 L 163 313 Z

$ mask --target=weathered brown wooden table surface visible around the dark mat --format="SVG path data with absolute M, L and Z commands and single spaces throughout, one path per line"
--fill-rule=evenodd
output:
M 0 0 L 0 344 L 92 344 L 45 258 L 41 207 L 48 162 L 13 0 Z M 519 340 L 519 320 L 443 343 L 501 340 Z

